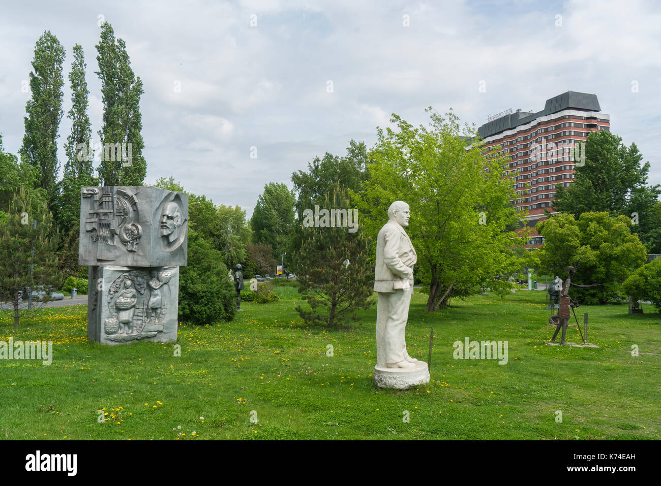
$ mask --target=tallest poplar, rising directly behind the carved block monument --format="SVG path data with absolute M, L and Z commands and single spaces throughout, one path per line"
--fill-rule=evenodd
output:
M 98 132 L 104 145 L 98 168 L 101 182 L 103 186 L 141 186 L 147 173 L 147 162 L 142 156 L 145 144 L 140 133 L 142 81 L 131 69 L 124 40 L 115 39 L 108 22 L 101 26 L 96 47 L 96 73 L 103 95 L 103 127 Z M 120 149 L 122 144 L 127 144 L 125 149 Z M 108 147 L 110 150 L 106 150 Z

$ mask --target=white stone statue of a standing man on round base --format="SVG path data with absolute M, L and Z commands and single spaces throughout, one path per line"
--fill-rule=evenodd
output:
M 410 210 L 403 201 L 388 209 L 389 221 L 377 237 L 374 291 L 377 292 L 377 365 L 374 382 L 381 388 L 410 388 L 429 382 L 427 363 L 408 355 L 405 328 L 413 295 L 413 265 L 418 260 L 403 226 Z

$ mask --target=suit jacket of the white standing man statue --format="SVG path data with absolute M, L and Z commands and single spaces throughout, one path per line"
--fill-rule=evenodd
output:
M 395 292 L 403 288 L 407 267 L 413 269 L 418 256 L 407 232 L 396 221 L 388 221 L 376 240 L 375 292 Z M 413 286 L 413 277 L 408 279 Z

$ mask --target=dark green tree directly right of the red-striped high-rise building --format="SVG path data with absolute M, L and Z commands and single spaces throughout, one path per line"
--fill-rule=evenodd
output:
M 593 131 L 586 142 L 584 166 L 568 188 L 556 186 L 554 209 L 578 219 L 582 213 L 606 211 L 635 221 L 633 232 L 648 251 L 661 250 L 658 197 L 661 186 L 647 186 L 650 162 L 642 163 L 635 143 L 626 147 L 609 131 Z M 637 220 L 637 221 L 636 221 Z

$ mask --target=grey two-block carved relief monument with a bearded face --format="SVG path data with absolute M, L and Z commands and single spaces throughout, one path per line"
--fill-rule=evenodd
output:
M 87 337 L 176 341 L 188 195 L 151 186 L 82 188 L 79 264 L 89 265 Z

